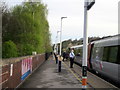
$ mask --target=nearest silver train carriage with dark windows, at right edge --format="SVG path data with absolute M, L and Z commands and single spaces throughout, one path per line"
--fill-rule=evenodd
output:
M 97 73 L 107 76 L 115 82 L 119 82 L 120 65 L 120 36 L 109 37 L 95 41 L 92 54 L 92 69 Z

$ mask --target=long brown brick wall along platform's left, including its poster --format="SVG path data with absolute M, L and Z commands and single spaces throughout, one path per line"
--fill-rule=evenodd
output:
M 15 63 L 9 63 L 0 69 L 0 86 L 2 89 L 16 88 L 48 57 L 49 53 L 25 57 Z

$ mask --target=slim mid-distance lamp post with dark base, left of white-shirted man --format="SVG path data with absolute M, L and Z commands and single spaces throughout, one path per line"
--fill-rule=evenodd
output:
M 60 57 L 62 56 L 62 19 L 67 17 L 61 17 L 61 31 L 60 31 Z M 58 64 L 58 72 L 61 72 L 61 60 L 59 60 Z

